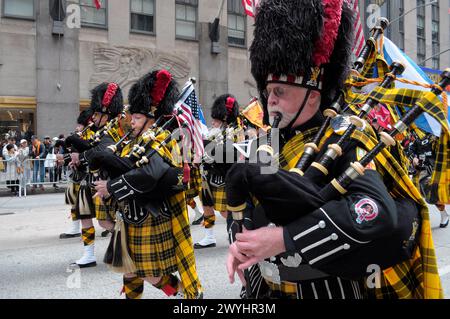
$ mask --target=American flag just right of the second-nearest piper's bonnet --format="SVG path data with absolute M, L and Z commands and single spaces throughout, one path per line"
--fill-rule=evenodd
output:
M 187 124 L 186 129 L 191 137 L 190 149 L 194 150 L 194 161 L 199 161 L 205 151 L 202 132 L 206 127 L 206 122 L 191 81 L 188 81 L 183 88 L 183 95 L 175 105 L 175 109 L 182 110 L 179 118 Z

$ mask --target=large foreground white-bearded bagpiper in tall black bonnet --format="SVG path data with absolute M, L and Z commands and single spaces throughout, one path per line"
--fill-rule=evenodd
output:
M 343 0 L 266 0 L 257 10 L 251 71 L 280 146 L 261 145 L 256 162 L 233 165 L 225 181 L 228 209 L 239 228 L 247 222 L 227 269 L 247 297 L 442 297 L 425 203 L 398 158 L 386 149 L 366 157 L 377 143 L 370 125 L 338 113 L 352 30 Z M 378 89 L 401 72 L 394 64 Z M 361 116 L 378 102 L 371 98 Z M 244 218 L 249 197 L 257 208 Z M 252 265 L 258 272 L 247 271 Z

